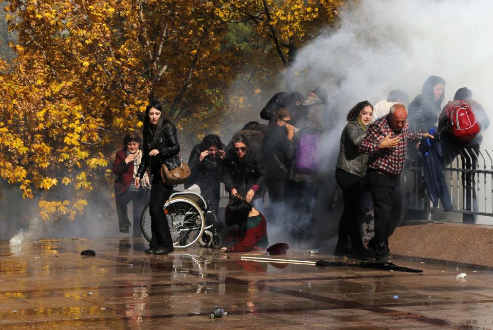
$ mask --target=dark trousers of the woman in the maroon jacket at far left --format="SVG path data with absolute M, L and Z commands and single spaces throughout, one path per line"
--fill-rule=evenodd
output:
M 133 182 L 131 184 L 134 184 Z M 148 191 L 148 190 L 147 190 Z M 144 210 L 145 205 L 149 197 L 148 192 L 142 187 L 139 190 L 127 189 L 122 195 L 116 197 L 118 223 L 120 227 L 130 227 L 131 223 L 128 220 L 128 203 L 132 202 L 134 208 L 134 236 L 140 236 L 142 234 L 140 230 L 140 216 Z

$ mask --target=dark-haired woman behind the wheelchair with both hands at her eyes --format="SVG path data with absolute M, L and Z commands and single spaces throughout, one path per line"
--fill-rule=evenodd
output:
M 222 167 L 226 152 L 221 139 L 215 134 L 208 134 L 201 143 L 197 144 L 190 153 L 188 166 L 192 175 L 185 183 L 185 189 L 192 185 L 200 188 L 200 195 L 216 213 L 219 211 L 220 185 L 222 179 Z

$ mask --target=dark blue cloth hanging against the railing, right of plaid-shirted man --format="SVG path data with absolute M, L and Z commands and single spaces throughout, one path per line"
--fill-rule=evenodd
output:
M 442 202 L 444 211 L 452 210 L 450 193 L 445 183 L 443 173 L 443 153 L 440 145 L 439 134 L 435 134 L 435 128 L 430 128 L 429 133 L 434 139 L 423 138 L 420 151 L 423 156 L 423 172 L 425 174 L 426 190 L 430 196 L 433 207 L 438 207 L 439 200 Z

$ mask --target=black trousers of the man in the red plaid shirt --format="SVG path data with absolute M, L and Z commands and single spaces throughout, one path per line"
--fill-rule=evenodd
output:
M 375 236 L 370 246 L 375 250 L 375 257 L 386 257 L 390 252 L 389 237 L 401 219 L 401 178 L 374 170 L 368 170 L 366 177 L 375 211 Z

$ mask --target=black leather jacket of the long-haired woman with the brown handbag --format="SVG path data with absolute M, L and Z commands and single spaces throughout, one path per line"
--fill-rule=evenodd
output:
M 175 124 L 168 120 L 164 120 L 158 139 L 154 144 L 153 134 L 144 132 L 143 147 L 142 162 L 137 170 L 137 176 L 142 179 L 149 165 L 150 172 L 159 175 L 162 164 L 169 161 L 174 156 L 177 156 L 178 152 L 180 152 Z M 153 149 L 158 149 L 159 154 L 151 157 L 149 156 L 149 152 Z

